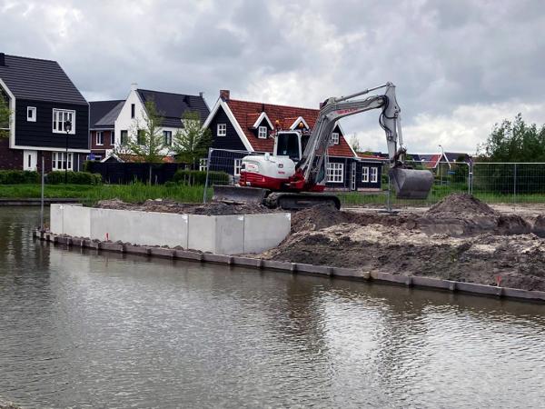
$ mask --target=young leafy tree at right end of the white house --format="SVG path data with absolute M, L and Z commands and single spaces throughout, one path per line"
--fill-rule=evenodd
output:
M 201 115 L 198 112 L 185 111 L 182 115 L 183 129 L 173 136 L 172 150 L 178 162 L 191 167 L 208 153 L 212 145 L 212 132 L 201 125 Z

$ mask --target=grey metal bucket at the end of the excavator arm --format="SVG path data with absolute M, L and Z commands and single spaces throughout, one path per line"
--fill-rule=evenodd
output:
M 426 199 L 433 185 L 433 174 L 427 170 L 394 167 L 389 175 L 398 199 Z

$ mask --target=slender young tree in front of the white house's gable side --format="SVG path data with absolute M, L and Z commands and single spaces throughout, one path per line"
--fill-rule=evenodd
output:
M 143 162 L 149 164 L 148 183 L 152 183 L 153 164 L 163 162 L 167 149 L 163 139 L 163 116 L 157 111 L 154 101 L 145 104 L 144 121 L 134 119 L 130 136 L 114 149 L 124 162 Z

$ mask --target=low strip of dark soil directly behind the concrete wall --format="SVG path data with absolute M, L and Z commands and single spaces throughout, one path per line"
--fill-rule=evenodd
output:
M 139 210 L 144 212 L 205 215 L 263 214 L 274 212 L 263 205 L 227 204 L 223 202 L 183 204 L 172 200 L 162 199 L 146 200 L 142 204 L 125 203 L 119 199 L 102 200 L 96 207 L 115 210 Z

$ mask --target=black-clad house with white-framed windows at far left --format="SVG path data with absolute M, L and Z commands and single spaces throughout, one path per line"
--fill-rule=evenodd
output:
M 89 105 L 55 61 L 0 53 L 0 94 L 10 106 L 0 169 L 80 170 L 89 154 Z

